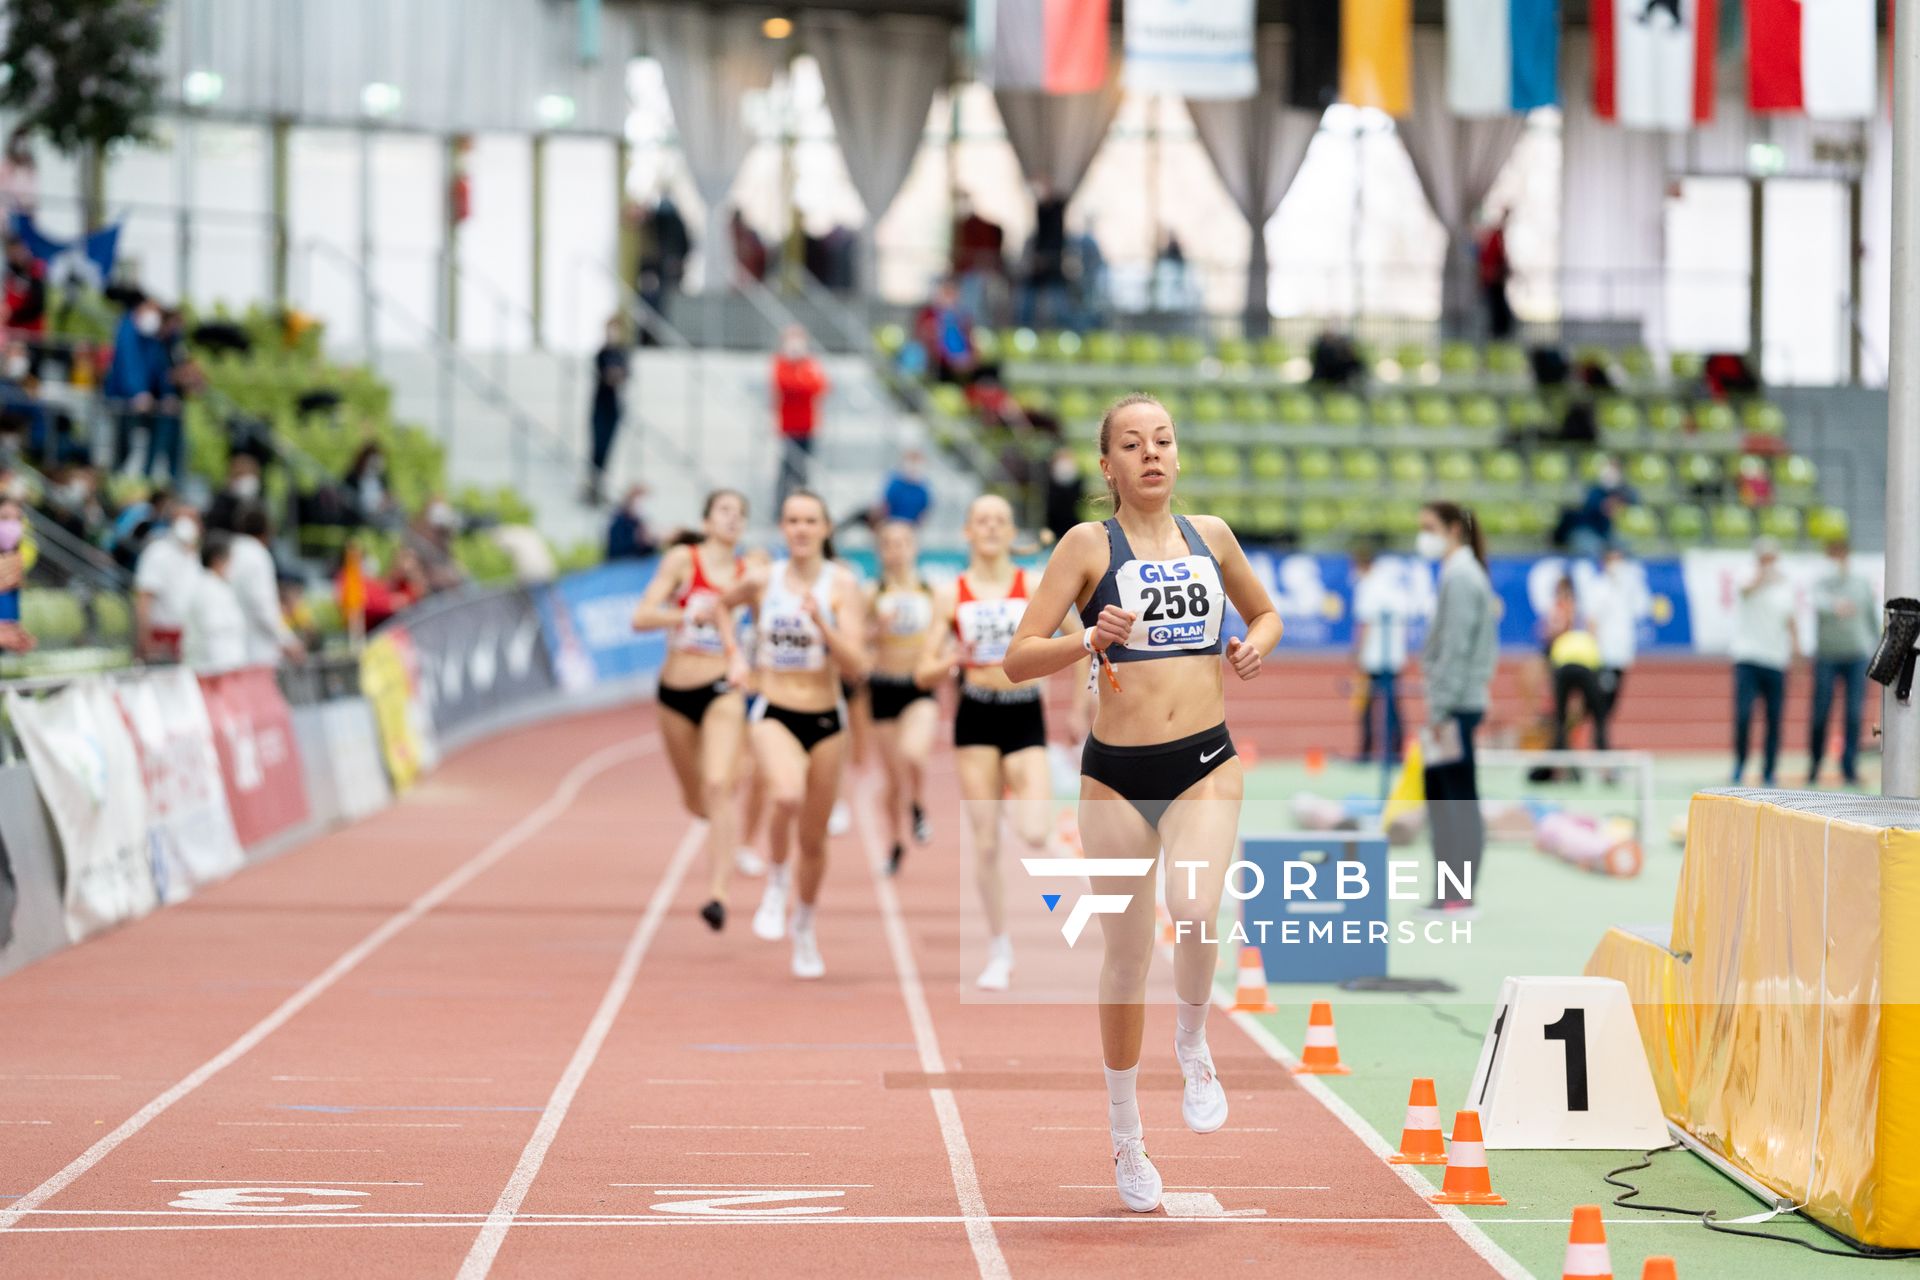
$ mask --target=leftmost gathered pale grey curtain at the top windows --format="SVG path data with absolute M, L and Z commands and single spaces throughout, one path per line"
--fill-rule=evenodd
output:
M 666 100 L 674 107 L 680 154 L 707 205 L 707 288 L 722 290 L 733 276 L 733 236 L 726 198 L 747 159 L 753 134 L 741 100 L 766 88 L 787 48 L 760 35 L 760 13 L 670 6 L 647 10 L 649 52 L 660 61 Z

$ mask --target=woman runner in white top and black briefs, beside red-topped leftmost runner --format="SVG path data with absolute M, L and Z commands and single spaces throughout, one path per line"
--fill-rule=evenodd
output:
M 787 858 L 799 842 L 799 906 L 793 910 L 793 977 L 826 975 L 814 936 L 814 904 L 828 869 L 828 816 L 839 796 L 847 733 L 841 679 L 866 676 L 866 597 L 854 576 L 828 558 L 828 505 L 795 489 L 780 507 L 787 558 L 745 593 L 755 603 L 753 754 L 768 816 L 766 894 L 753 933 L 774 942 L 787 933 Z M 795 841 L 795 837 L 799 837 Z

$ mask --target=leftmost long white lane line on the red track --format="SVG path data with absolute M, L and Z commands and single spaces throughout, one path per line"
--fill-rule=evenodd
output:
M 6 1209 L 0 1209 L 0 1232 L 19 1222 L 19 1219 L 25 1213 L 38 1209 L 48 1199 L 67 1190 L 75 1182 L 75 1178 L 79 1178 L 88 1169 L 104 1161 L 123 1142 L 127 1142 L 142 1128 L 152 1125 L 156 1119 L 165 1115 L 165 1111 L 173 1103 L 180 1102 L 196 1088 L 211 1080 L 215 1075 L 219 1075 L 232 1063 L 246 1057 L 261 1040 L 276 1032 L 296 1013 L 300 1013 L 309 1004 L 313 1004 L 328 990 L 332 990 L 332 986 L 340 979 L 353 973 L 353 969 L 357 969 L 376 950 L 392 942 L 394 936 L 397 936 L 403 929 L 413 925 L 417 919 L 420 919 L 434 908 L 442 906 L 447 898 L 451 898 L 459 890 L 467 889 L 467 885 L 470 885 L 482 873 L 492 869 L 493 864 L 497 864 L 501 858 L 520 848 L 520 844 L 524 844 L 540 831 L 543 831 L 549 823 L 553 823 L 553 819 L 557 819 L 561 814 L 572 808 L 574 800 L 580 798 L 580 793 L 586 789 L 589 781 L 593 781 L 607 770 L 614 768 L 616 764 L 624 764 L 626 760 L 632 760 L 634 756 L 645 754 L 649 750 L 659 750 L 659 745 L 660 739 L 651 735 L 645 739 L 616 743 L 612 747 L 605 747 L 593 752 L 574 768 L 566 770 L 566 775 L 553 789 L 553 794 L 549 794 L 540 804 L 540 808 L 530 812 L 520 821 L 513 823 L 513 827 L 509 827 L 501 835 L 493 837 L 493 841 L 486 848 L 482 848 L 478 854 L 461 864 L 451 875 L 447 875 L 438 885 L 428 889 L 424 894 L 420 894 L 405 908 L 390 915 L 386 923 L 382 923 L 378 929 L 374 929 L 365 938 L 355 942 L 344 956 L 340 956 L 340 960 L 326 965 L 326 969 L 321 971 L 315 979 L 311 979 L 305 986 L 301 986 L 284 1002 L 280 1002 L 280 1006 L 273 1013 L 248 1027 L 238 1040 L 228 1044 L 225 1050 L 221 1050 L 207 1061 L 194 1067 L 173 1088 L 165 1090 L 163 1094 L 148 1102 L 144 1107 L 134 1111 L 131 1117 L 121 1121 L 119 1126 L 113 1128 L 113 1132 L 109 1132 L 108 1136 L 100 1138 L 96 1144 L 81 1151 L 65 1169 L 56 1173 L 52 1178 L 33 1188 L 19 1199 L 15 1199 Z

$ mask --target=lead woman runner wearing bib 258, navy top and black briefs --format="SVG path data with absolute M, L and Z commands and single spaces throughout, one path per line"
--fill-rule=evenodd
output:
M 1106 411 L 1100 470 L 1116 514 L 1060 539 L 1006 652 L 1006 676 L 1035 679 L 1083 652 L 1106 668 L 1081 754 L 1081 846 L 1089 858 L 1154 858 L 1165 846 L 1177 936 L 1173 1052 L 1187 1080 L 1181 1113 L 1206 1134 L 1227 1123 L 1227 1094 L 1206 1044 L 1219 944 L 1202 940 L 1202 925 L 1213 929 L 1219 915 L 1242 789 L 1217 654 L 1235 676 L 1254 679 L 1281 641 L 1281 618 L 1225 522 L 1173 514 L 1179 466 L 1173 418 L 1160 401 L 1127 395 Z M 1246 620 L 1244 641 L 1221 643 L 1225 601 Z M 1075 606 L 1087 631 L 1056 637 Z M 1096 894 L 1133 898 L 1123 913 L 1100 917 L 1100 1048 L 1114 1182 L 1129 1209 L 1148 1213 L 1160 1205 L 1160 1173 L 1146 1157 L 1135 1075 L 1154 958 L 1154 877 L 1091 881 Z

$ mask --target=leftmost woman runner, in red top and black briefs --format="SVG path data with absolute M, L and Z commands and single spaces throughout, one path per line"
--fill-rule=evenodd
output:
M 735 854 L 733 787 L 747 733 L 741 691 L 747 668 L 722 597 L 741 578 L 737 555 L 747 499 L 707 495 L 705 537 L 666 553 L 634 610 L 636 631 L 670 631 L 660 668 L 660 737 L 687 812 L 707 819 L 707 906 L 701 919 L 726 927 L 728 871 Z M 745 865 L 741 867 L 745 869 Z

